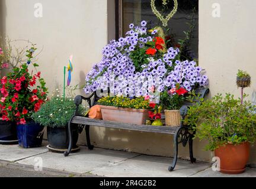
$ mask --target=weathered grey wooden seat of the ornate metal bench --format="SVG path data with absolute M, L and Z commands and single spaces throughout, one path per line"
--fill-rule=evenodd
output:
M 82 125 L 91 125 L 91 126 L 100 126 L 104 128 L 113 128 L 113 129 L 125 129 L 131 131 L 142 131 L 142 132 L 154 132 L 154 133 L 167 133 L 175 134 L 178 127 L 171 126 L 150 126 L 150 125 L 135 125 L 131 123 L 119 123 L 119 122 L 110 122 L 105 120 L 90 119 L 83 116 L 75 116 L 72 120 L 72 123 L 82 124 Z

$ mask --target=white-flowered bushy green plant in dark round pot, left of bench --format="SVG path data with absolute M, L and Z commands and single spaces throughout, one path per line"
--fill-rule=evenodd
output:
M 76 106 L 72 97 L 55 95 L 32 115 L 33 120 L 41 126 L 47 127 L 47 139 L 52 151 L 62 152 L 68 149 L 68 122 L 73 116 Z M 78 113 L 82 114 L 84 107 L 80 106 Z M 78 148 L 78 127 L 72 126 L 72 149 Z

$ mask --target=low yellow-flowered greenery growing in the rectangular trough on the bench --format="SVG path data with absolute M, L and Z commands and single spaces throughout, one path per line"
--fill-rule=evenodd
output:
M 124 96 L 108 96 L 102 97 L 98 100 L 99 105 L 114 106 L 132 109 L 149 109 L 149 100 L 145 100 L 144 97 L 137 97 L 136 99 L 130 99 Z

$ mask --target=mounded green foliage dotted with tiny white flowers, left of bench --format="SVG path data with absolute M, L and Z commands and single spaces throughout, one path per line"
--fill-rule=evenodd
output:
M 62 128 L 68 125 L 73 113 L 75 112 L 76 105 L 73 98 L 54 96 L 41 106 L 41 109 L 33 113 L 31 118 L 40 125 Z M 79 106 L 78 114 L 82 115 L 84 107 Z

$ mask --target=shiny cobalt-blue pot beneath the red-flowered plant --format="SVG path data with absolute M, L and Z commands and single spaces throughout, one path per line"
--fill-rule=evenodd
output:
M 40 147 L 43 141 L 43 126 L 28 122 L 26 125 L 17 126 L 18 144 L 23 148 Z

